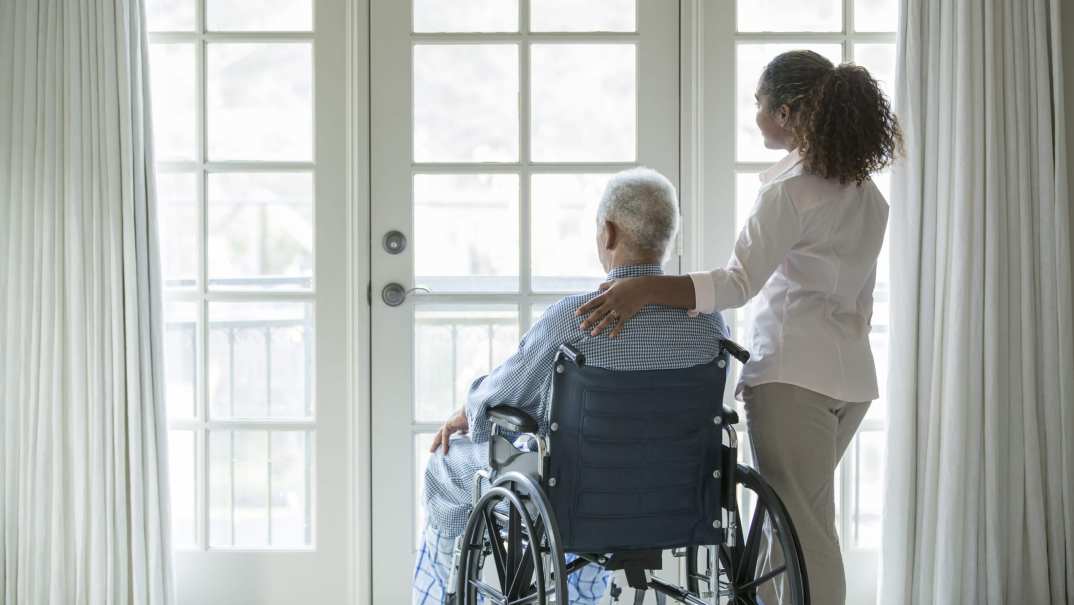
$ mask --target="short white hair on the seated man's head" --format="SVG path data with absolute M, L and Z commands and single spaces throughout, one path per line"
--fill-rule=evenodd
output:
M 611 177 L 600 197 L 597 227 L 615 224 L 636 253 L 667 256 L 679 231 L 679 200 L 674 185 L 649 168 L 632 168 Z

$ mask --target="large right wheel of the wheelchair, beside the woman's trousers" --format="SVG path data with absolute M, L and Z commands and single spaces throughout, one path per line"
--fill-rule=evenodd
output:
M 735 545 L 686 549 L 686 588 L 712 603 L 809 605 L 809 580 L 790 515 L 775 491 L 739 465 Z

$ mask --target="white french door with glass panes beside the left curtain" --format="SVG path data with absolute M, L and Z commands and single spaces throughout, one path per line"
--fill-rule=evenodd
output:
M 147 0 L 180 604 L 346 603 L 342 0 Z

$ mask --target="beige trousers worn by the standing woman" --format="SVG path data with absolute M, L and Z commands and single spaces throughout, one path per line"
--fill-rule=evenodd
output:
M 837 401 L 782 383 L 746 387 L 742 399 L 754 463 L 783 500 L 798 532 L 810 601 L 844 605 L 846 576 L 836 535 L 836 466 L 869 402 Z

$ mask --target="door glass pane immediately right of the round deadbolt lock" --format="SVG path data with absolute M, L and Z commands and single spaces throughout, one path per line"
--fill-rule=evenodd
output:
M 413 177 L 415 275 L 433 292 L 519 288 L 519 177 Z

